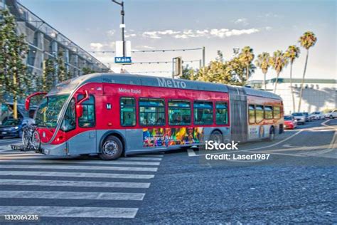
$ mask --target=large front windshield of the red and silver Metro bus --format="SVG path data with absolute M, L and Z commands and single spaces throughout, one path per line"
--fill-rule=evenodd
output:
M 56 127 L 58 116 L 69 95 L 53 95 L 43 98 L 36 110 L 36 125 L 38 127 Z

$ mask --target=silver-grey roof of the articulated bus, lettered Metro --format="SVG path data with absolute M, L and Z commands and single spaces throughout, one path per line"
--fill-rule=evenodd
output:
M 84 85 L 85 83 L 119 83 L 125 85 L 143 85 L 162 88 L 179 88 L 189 90 L 205 90 L 221 93 L 228 93 L 228 85 L 220 83 L 206 83 L 195 80 L 182 80 L 150 75 L 138 75 L 128 73 L 92 73 L 82 75 L 71 80 L 66 80 L 55 86 L 48 95 L 58 93 L 70 93 L 71 90 Z M 240 87 L 242 88 L 242 87 Z M 260 96 L 264 98 L 274 98 L 282 100 L 279 95 L 252 88 L 244 88 L 247 95 Z

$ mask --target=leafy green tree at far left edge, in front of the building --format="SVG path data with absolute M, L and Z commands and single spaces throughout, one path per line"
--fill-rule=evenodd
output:
M 23 34 L 16 32 L 14 16 L 9 11 L 0 11 L 0 99 L 4 93 L 13 98 L 13 117 L 17 119 L 18 97 L 26 95 L 31 86 L 31 79 L 26 73 L 24 60 L 28 52 L 28 45 Z

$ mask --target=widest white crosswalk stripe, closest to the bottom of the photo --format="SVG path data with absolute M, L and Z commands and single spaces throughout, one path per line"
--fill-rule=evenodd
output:
M 36 214 L 42 217 L 134 218 L 137 208 L 68 207 L 68 206 L 0 206 L 0 214 Z

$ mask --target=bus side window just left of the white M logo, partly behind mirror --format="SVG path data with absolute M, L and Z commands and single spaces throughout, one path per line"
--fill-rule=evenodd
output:
M 77 102 L 84 98 L 84 95 L 77 96 Z M 95 98 L 90 95 L 88 100 L 85 100 L 82 104 L 83 114 L 78 118 L 78 125 L 80 127 L 95 127 Z

